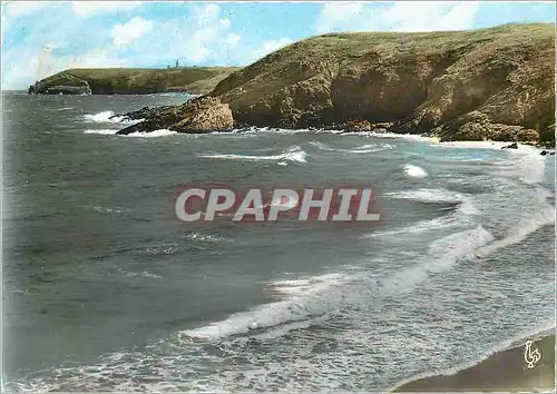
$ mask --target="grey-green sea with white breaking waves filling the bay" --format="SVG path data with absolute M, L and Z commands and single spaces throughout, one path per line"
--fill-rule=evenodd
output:
M 116 136 L 180 93 L 2 111 L 8 391 L 387 391 L 555 327 L 555 156 L 251 128 Z M 373 226 L 176 218 L 182 185 L 371 185 Z

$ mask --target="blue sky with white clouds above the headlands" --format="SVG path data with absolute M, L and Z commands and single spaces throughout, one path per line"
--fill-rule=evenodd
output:
M 554 2 L 2 1 L 2 89 L 76 67 L 246 66 L 331 31 L 555 23 Z

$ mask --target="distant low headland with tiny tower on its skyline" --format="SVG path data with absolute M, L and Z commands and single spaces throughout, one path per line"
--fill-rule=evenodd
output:
M 166 91 L 207 93 L 237 67 L 170 69 L 70 69 L 29 87 L 30 93 L 144 95 Z

